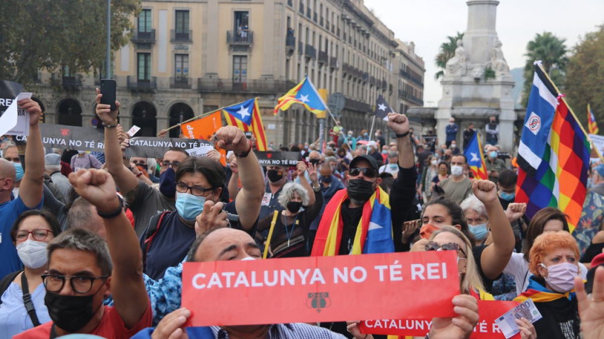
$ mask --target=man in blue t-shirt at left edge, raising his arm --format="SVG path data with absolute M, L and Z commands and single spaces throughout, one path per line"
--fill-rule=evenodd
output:
M 6 274 L 21 270 L 22 265 L 13 242 L 10 241 L 10 229 L 20 214 L 28 209 L 42 208 L 42 185 L 44 180 L 44 148 L 38 122 L 42 110 L 40 105 L 31 99 L 18 103 L 19 109 L 30 115 L 30 135 L 25 147 L 25 174 L 17 178 L 17 166 L 21 168 L 21 160 L 17 152 L 11 153 L 11 147 L 4 152 L 7 159 L 0 159 L 0 279 Z M 16 149 L 16 148 L 15 148 Z M 21 194 L 11 200 L 11 192 L 15 183 L 21 180 Z

